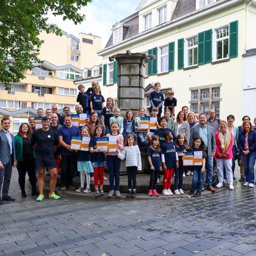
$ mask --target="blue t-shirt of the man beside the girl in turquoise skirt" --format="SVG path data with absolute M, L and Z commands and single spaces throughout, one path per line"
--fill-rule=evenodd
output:
M 62 136 L 62 140 L 67 145 L 71 145 L 72 136 L 79 136 L 80 135 L 80 130 L 79 130 L 78 127 L 73 126 L 73 125 L 72 125 L 72 127 L 63 126 L 58 131 L 58 135 Z M 67 148 L 60 147 L 60 154 L 76 155 L 76 152 L 70 152 L 69 150 L 67 150 Z

